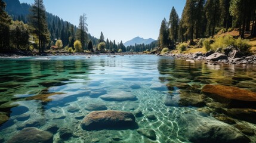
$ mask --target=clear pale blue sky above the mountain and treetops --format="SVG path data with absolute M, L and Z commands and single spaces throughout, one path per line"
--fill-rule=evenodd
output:
M 20 0 L 32 4 L 34 0 Z M 186 0 L 44 0 L 48 12 L 78 26 L 87 14 L 89 33 L 96 38 L 126 42 L 136 36 L 158 39 L 161 21 L 169 20 L 172 6 L 179 16 Z

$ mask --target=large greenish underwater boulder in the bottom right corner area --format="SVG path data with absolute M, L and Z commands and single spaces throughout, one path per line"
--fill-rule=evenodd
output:
M 250 142 L 249 138 L 233 126 L 208 117 L 187 114 L 181 117 L 179 122 L 185 125 L 184 128 L 187 129 L 187 137 L 190 142 Z M 186 126 L 187 123 L 189 123 L 189 128 Z

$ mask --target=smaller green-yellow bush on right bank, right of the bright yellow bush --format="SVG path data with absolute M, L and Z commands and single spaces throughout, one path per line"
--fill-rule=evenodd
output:
M 249 49 L 251 48 L 251 45 L 249 44 L 249 40 L 247 40 L 247 39 L 242 39 L 242 38 L 236 39 L 235 47 L 239 48 L 240 51 L 243 52 L 246 55 L 251 53 L 249 51 Z

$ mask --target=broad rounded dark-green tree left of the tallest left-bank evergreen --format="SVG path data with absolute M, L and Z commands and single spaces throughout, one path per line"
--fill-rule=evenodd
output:
M 13 21 L 10 26 L 11 45 L 17 49 L 29 48 L 29 30 L 23 21 Z

